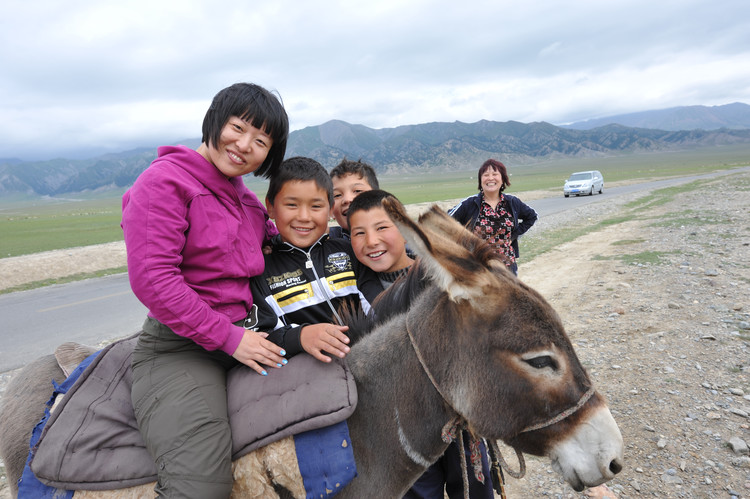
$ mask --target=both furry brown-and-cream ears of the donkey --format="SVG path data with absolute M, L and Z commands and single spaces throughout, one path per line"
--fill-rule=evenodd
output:
M 398 203 L 384 199 L 383 208 L 422 259 L 427 275 L 451 300 L 471 300 L 484 295 L 483 288 L 494 277 L 469 247 L 475 243 L 473 234 L 436 205 L 419 217 L 419 225 Z

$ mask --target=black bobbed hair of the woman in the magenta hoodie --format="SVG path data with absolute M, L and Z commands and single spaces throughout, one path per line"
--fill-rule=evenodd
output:
M 273 139 L 266 160 L 253 172 L 256 177 L 270 178 L 284 159 L 289 136 L 289 118 L 281 101 L 254 83 L 235 83 L 219 91 L 203 118 L 203 142 L 218 147 L 221 130 L 232 116 L 249 121 Z

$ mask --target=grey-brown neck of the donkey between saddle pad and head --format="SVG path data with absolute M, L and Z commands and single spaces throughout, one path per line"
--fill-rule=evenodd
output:
M 404 318 L 380 325 L 347 356 L 358 387 L 357 410 L 349 418 L 350 431 L 362 442 L 353 449 L 357 466 L 379 475 L 376 483 L 393 483 L 394 497 L 442 455 L 448 444 L 441 431 L 456 417 L 424 373 Z

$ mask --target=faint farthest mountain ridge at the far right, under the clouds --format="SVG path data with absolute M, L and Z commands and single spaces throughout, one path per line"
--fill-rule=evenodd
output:
M 718 130 L 750 128 L 750 105 L 741 102 L 723 106 L 681 106 L 655 111 L 620 114 L 563 125 L 574 130 L 591 130 L 616 123 L 658 130 Z

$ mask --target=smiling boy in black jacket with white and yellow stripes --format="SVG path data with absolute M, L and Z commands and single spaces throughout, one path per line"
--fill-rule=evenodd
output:
M 348 241 L 328 237 L 332 205 L 331 178 L 313 159 L 287 159 L 271 178 L 266 207 L 279 235 L 263 275 L 252 280 L 257 322 L 246 327 L 268 332 L 287 356 L 304 350 L 322 362 L 331 361 L 323 352 L 343 358 L 349 338 L 346 326 L 333 323 L 341 323 L 338 307 L 347 300 L 367 312 L 383 290 Z

